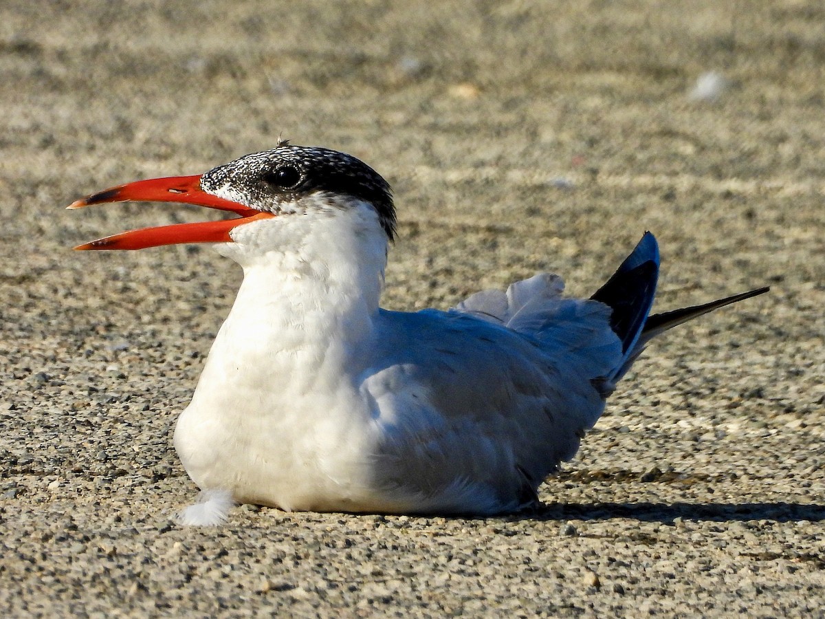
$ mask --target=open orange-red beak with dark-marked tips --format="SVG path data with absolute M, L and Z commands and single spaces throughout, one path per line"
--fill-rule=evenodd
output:
M 206 206 L 210 209 L 227 210 L 238 219 L 203 221 L 196 224 L 172 224 L 156 228 L 142 228 L 113 234 L 91 243 L 83 243 L 75 249 L 144 249 L 177 243 L 228 243 L 232 241 L 230 230 L 252 220 L 272 217 L 271 213 L 250 209 L 231 200 L 206 193 L 200 188 L 200 174 L 191 177 L 150 178 L 147 181 L 130 182 L 118 187 L 98 191 L 91 196 L 74 201 L 67 208 L 104 202 L 181 202 Z

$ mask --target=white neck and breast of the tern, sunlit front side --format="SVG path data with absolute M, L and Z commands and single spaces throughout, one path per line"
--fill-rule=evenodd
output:
M 248 238 L 222 248 L 244 280 L 178 420 L 181 462 L 201 489 L 240 502 L 392 511 L 375 504 L 375 423 L 356 385 L 386 256 L 375 211 L 267 224 L 238 230 L 277 251 L 239 253 Z

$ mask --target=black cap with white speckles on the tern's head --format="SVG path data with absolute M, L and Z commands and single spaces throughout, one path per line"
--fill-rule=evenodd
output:
M 337 150 L 282 143 L 213 168 L 200 179 L 205 191 L 228 185 L 245 194 L 250 204 L 272 212 L 314 193 L 351 196 L 374 206 L 387 237 L 395 237 L 389 183 L 360 159 Z

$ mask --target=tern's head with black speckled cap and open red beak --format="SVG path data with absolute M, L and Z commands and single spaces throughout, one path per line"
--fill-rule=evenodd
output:
M 375 211 L 388 239 L 395 234 L 395 208 L 389 184 L 359 159 L 334 150 L 282 142 L 209 172 L 189 177 L 130 182 L 68 206 L 103 202 L 181 202 L 226 210 L 237 218 L 130 230 L 85 243 L 76 249 L 143 249 L 176 243 L 244 243 L 242 229 L 277 226 L 302 216 L 327 218 L 365 205 Z

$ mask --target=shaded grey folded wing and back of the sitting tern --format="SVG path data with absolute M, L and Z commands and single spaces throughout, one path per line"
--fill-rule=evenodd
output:
M 382 311 L 380 363 L 361 376 L 380 483 L 419 512 L 497 513 L 578 449 L 620 363 L 610 309 L 563 299 L 554 276 L 449 312 Z

